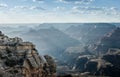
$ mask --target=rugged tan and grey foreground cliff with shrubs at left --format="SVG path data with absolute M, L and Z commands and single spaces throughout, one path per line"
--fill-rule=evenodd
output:
M 54 60 L 48 55 L 44 57 L 46 61 L 32 43 L 18 37 L 9 38 L 0 32 L 0 77 L 44 77 L 48 74 L 53 77 Z

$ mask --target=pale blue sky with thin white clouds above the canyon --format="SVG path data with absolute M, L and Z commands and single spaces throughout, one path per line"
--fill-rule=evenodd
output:
M 0 23 L 120 22 L 120 0 L 0 0 Z

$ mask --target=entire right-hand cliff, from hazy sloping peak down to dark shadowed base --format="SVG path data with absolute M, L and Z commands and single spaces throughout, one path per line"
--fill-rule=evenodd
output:
M 93 48 L 96 54 L 79 56 L 75 70 L 96 76 L 120 76 L 120 28 L 116 28 Z M 93 52 L 94 52 L 93 51 Z

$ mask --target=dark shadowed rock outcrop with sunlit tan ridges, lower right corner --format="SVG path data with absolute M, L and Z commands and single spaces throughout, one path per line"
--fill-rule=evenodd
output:
M 95 76 L 110 76 L 119 77 L 120 76 L 120 49 L 119 48 L 109 48 L 107 53 L 92 57 L 95 55 L 80 56 L 76 62 L 76 70 L 79 70 L 88 75 Z

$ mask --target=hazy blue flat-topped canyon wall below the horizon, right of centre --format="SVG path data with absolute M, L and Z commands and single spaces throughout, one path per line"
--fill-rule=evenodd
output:
M 83 23 L 72 25 L 65 32 L 83 44 L 93 44 L 115 28 L 115 25 L 109 23 Z

